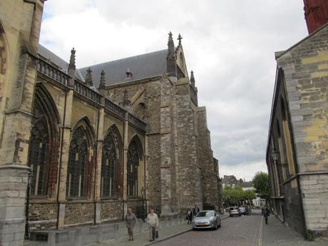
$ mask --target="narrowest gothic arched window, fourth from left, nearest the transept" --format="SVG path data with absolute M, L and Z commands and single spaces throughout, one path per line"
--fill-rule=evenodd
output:
M 128 148 L 128 196 L 138 195 L 138 166 L 139 166 L 138 146 L 133 141 Z

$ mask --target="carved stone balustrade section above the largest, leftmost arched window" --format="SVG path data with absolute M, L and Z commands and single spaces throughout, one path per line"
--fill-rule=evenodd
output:
M 36 69 L 43 75 L 48 76 L 49 78 L 52 78 L 53 80 L 57 81 L 58 83 L 61 83 L 65 86 L 67 85 L 69 76 L 66 73 L 64 73 L 63 71 L 61 71 L 60 69 L 51 65 L 50 63 L 42 60 L 41 58 L 38 60 Z

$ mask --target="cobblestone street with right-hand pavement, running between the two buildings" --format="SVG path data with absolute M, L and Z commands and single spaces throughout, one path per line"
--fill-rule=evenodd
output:
M 327 246 L 328 239 L 303 240 L 289 227 L 270 216 L 264 224 L 260 215 L 228 217 L 217 230 L 186 232 L 177 237 L 153 244 L 154 246 Z

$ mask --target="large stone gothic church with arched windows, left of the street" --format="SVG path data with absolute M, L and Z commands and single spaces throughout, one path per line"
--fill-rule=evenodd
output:
M 128 207 L 218 210 L 218 164 L 180 34 L 177 46 L 170 33 L 161 51 L 78 69 L 83 51 L 66 62 L 39 45 L 44 2 L 0 1 L 0 244 L 21 245 L 26 227 L 122 220 Z

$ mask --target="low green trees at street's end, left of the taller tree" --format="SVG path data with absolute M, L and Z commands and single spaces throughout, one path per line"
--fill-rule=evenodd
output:
M 223 190 L 223 202 L 225 205 L 239 205 L 242 201 L 256 198 L 256 194 L 253 190 L 242 190 L 240 186 L 231 188 L 225 187 Z

